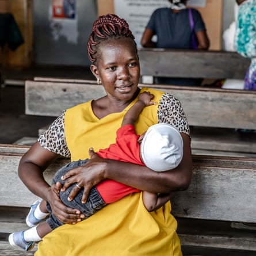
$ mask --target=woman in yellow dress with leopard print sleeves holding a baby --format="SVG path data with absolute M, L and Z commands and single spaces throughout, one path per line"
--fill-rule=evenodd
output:
M 137 87 L 139 59 L 127 22 L 114 14 L 99 17 L 93 24 L 87 49 L 91 71 L 104 86 L 106 95 L 63 112 L 22 157 L 18 168 L 24 184 L 49 202 L 54 215 L 66 224 L 73 224 L 45 236 L 35 255 L 182 255 L 170 202 L 155 212 L 148 212 L 141 193 L 133 193 L 81 221 L 81 213 L 65 207 L 59 199 L 60 189 L 77 183 L 69 199 L 81 187 L 86 200 L 89 190 L 104 179 L 152 193 L 170 193 L 188 188 L 192 175 L 185 114 L 179 101 L 170 94 Z M 153 100 L 157 104 L 143 109 L 136 130 L 143 133 L 156 123 L 170 123 L 177 128 L 184 141 L 184 156 L 179 166 L 156 173 L 146 166 L 102 159 L 94 152 L 89 155 L 89 147 L 98 151 L 114 142 L 124 113 L 145 90 L 155 95 Z M 60 184 L 49 186 L 43 178 L 45 168 L 59 155 L 71 156 L 71 161 L 91 157 L 86 165 L 64 175 L 66 183 L 62 188 Z

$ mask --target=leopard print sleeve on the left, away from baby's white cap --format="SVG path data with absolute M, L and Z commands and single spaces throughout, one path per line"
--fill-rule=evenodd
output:
M 68 150 L 65 133 L 64 133 L 64 111 L 45 131 L 39 136 L 37 141 L 39 144 L 58 155 L 70 158 L 70 151 Z

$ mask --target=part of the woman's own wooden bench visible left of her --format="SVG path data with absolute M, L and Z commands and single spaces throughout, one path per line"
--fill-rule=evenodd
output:
M 25 154 L 29 146 L 17 146 L 13 144 L 0 144 L 0 251 L 1 256 L 10 255 L 33 255 L 32 252 L 24 253 L 13 248 L 7 242 L 12 232 L 26 230 L 25 217 L 30 205 L 37 197 L 29 192 L 18 177 L 18 163 L 21 156 Z M 44 177 L 49 184 L 53 174 L 67 163 L 66 159 L 58 159 L 48 167 Z M 36 247 L 35 247 L 36 248 Z

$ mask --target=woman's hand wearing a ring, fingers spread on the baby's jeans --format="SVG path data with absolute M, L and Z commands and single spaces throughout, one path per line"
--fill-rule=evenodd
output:
M 64 192 L 70 185 L 76 183 L 77 186 L 72 188 L 68 200 L 72 201 L 80 189 L 83 190 L 82 203 L 87 200 L 90 189 L 100 183 L 104 177 L 107 161 L 95 154 L 93 148 L 89 148 L 90 161 L 85 165 L 76 167 L 62 176 L 65 183 L 61 189 Z

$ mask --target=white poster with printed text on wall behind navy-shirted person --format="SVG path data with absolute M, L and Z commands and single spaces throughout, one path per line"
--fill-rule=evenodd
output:
M 206 0 L 189 0 L 189 6 L 205 7 Z M 150 16 L 155 9 L 170 7 L 167 0 L 114 0 L 115 13 L 127 20 L 138 47 Z M 156 40 L 155 37 L 152 39 Z

